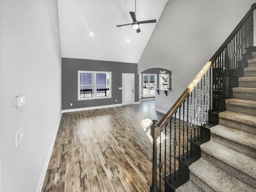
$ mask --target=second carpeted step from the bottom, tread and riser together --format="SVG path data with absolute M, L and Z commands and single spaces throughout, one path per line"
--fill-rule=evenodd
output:
M 254 188 L 202 158 L 191 164 L 189 169 L 190 180 L 206 192 L 255 192 Z

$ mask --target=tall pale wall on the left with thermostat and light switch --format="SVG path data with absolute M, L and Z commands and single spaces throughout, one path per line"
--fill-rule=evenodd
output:
M 35 192 L 61 114 L 57 0 L 1 0 L 0 29 L 1 188 Z M 17 108 L 22 95 L 26 104 Z

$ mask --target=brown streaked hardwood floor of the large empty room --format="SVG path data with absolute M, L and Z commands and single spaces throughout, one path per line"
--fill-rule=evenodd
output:
M 164 114 L 144 105 L 63 113 L 42 192 L 147 192 L 148 126 Z

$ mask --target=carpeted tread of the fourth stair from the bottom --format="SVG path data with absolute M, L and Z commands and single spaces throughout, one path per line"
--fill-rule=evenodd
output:
M 210 129 L 211 134 L 218 135 L 230 141 L 256 149 L 256 135 L 232 129 L 223 125 L 216 125 Z

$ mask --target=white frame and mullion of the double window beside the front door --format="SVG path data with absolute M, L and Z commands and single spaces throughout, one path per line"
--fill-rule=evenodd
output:
M 80 73 L 93 73 L 93 89 L 92 97 L 82 97 L 80 93 Z M 96 73 L 108 73 L 109 74 L 109 96 L 97 97 L 97 75 Z M 112 73 L 110 71 L 78 71 L 78 100 L 91 100 L 91 99 L 108 99 L 112 97 Z

